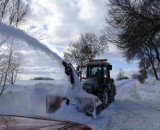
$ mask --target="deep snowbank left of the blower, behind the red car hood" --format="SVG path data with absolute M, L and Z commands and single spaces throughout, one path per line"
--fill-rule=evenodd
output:
M 69 82 L 64 80 L 30 80 L 24 81 L 24 85 L 22 82 L 11 85 L 0 97 L 0 114 L 47 116 L 46 95 L 65 95 L 69 87 Z

